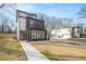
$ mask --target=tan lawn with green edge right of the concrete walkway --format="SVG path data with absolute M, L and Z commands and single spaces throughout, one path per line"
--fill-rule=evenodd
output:
M 32 43 L 37 50 L 39 50 L 47 57 L 52 60 L 66 60 L 66 61 L 86 61 L 86 46 L 76 46 L 69 43 L 58 43 L 56 42 L 47 42 L 44 43 L 35 42 Z M 47 52 L 47 51 L 49 52 Z M 48 55 L 49 54 L 49 55 Z M 56 59 L 54 59 L 56 57 Z

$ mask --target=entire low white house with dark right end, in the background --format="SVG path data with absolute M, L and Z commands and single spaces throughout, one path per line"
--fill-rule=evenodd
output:
M 52 39 L 69 39 L 79 37 L 83 37 L 83 28 L 81 26 L 51 30 Z

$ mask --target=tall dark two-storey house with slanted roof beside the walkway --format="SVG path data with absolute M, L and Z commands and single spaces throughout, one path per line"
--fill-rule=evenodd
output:
M 45 40 L 47 30 L 45 21 L 30 17 L 29 13 L 17 10 L 17 39 L 19 40 Z

